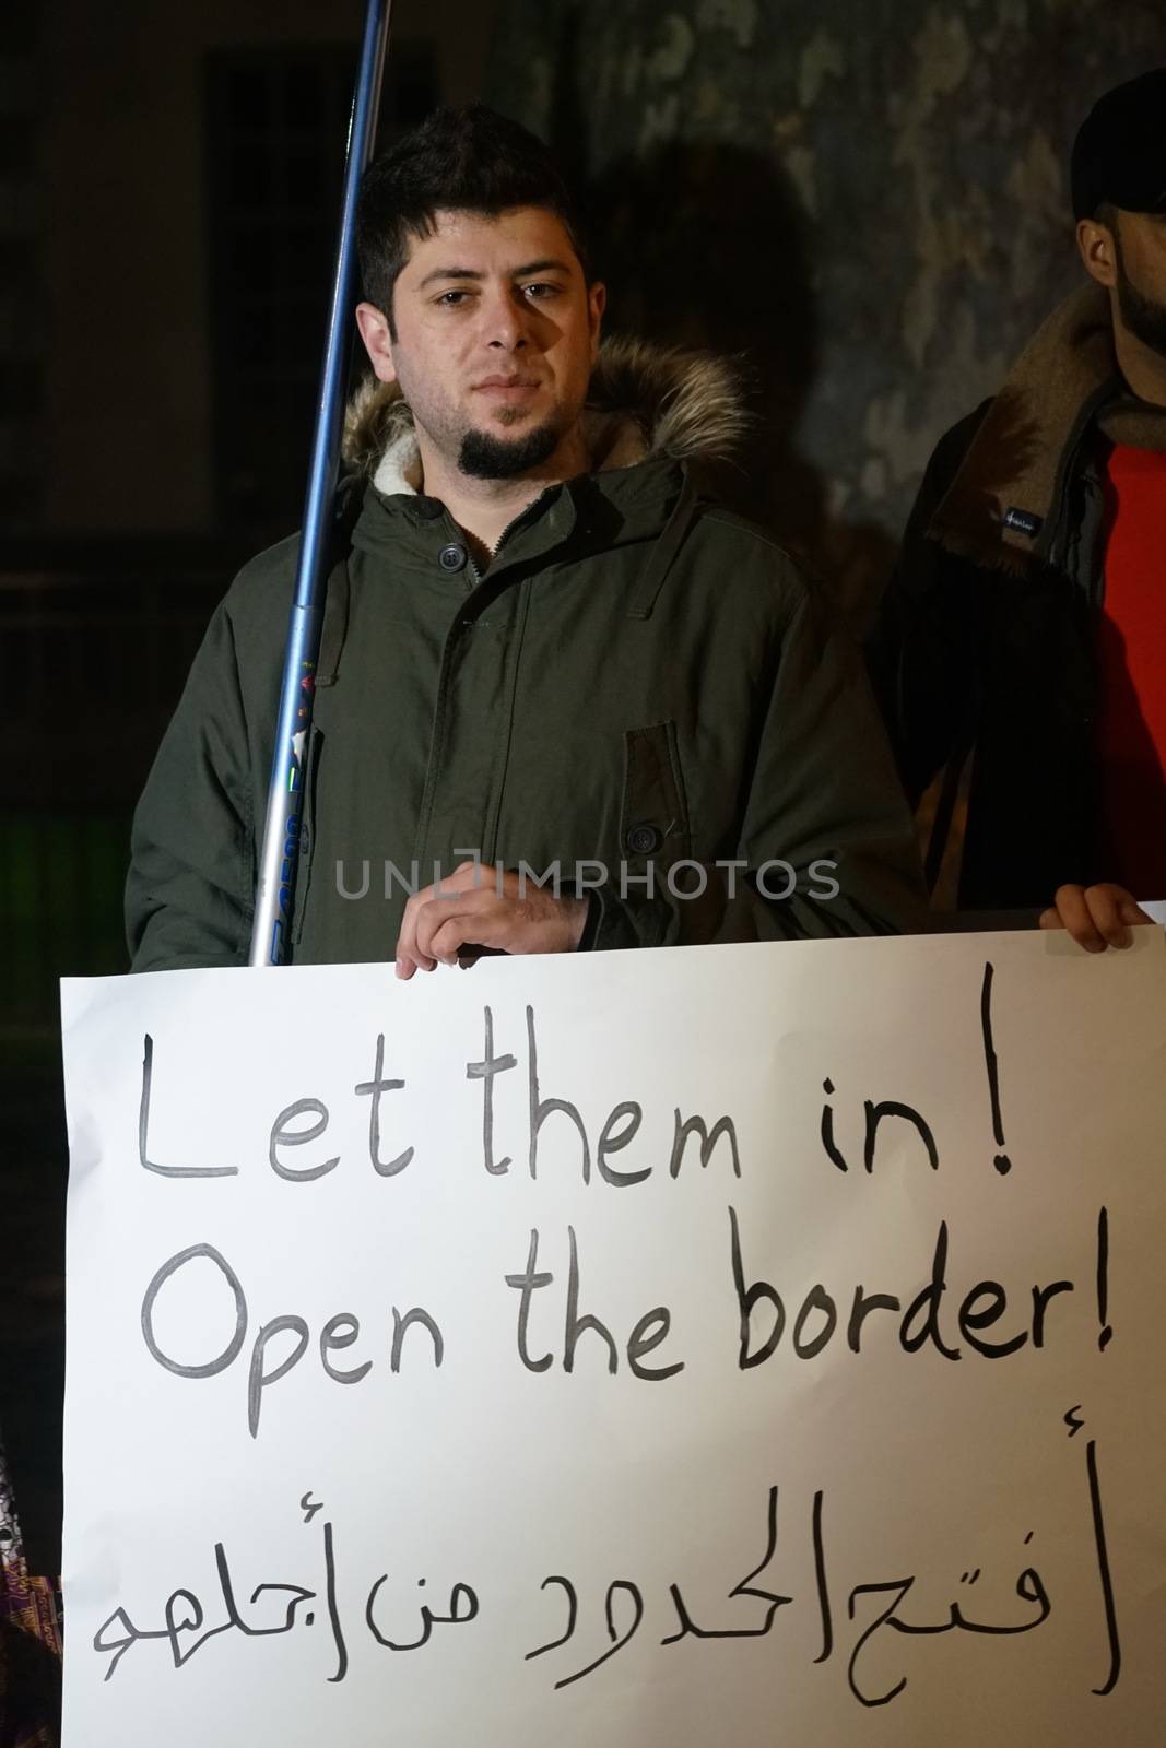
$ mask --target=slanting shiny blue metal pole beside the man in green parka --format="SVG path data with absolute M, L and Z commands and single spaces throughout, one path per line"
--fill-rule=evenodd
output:
M 381 100 L 390 14 L 392 0 L 367 0 L 357 89 L 348 124 L 344 205 L 336 252 L 336 276 L 332 280 L 332 304 L 323 350 L 316 428 L 311 444 L 304 526 L 295 570 L 295 601 L 287 636 L 287 654 L 283 657 L 280 718 L 271 785 L 267 788 L 267 818 L 259 860 L 259 884 L 255 888 L 252 965 L 281 965 L 287 958 L 290 940 L 295 865 L 299 862 L 304 759 L 311 732 L 323 591 L 327 587 L 323 568 L 329 558 L 329 535 L 344 420 L 344 390 L 348 385 L 348 353 L 351 346 L 351 304 L 357 276 L 357 196 L 360 177 L 369 163 L 376 136 L 376 114 Z

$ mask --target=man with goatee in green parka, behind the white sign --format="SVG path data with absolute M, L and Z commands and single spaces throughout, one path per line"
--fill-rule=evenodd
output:
M 474 107 L 378 159 L 292 956 L 399 974 L 906 926 L 865 682 L 790 559 L 701 495 L 724 364 L 600 346 L 545 147 Z M 215 614 L 142 797 L 135 968 L 245 963 L 295 542 Z

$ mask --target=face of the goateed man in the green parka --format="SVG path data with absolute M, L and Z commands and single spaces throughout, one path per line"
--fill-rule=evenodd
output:
M 357 311 L 372 367 L 399 381 L 423 444 L 449 467 L 510 479 L 573 432 L 594 364 L 603 287 L 587 288 L 559 218 L 519 206 L 441 212 L 393 290 L 397 336 Z

